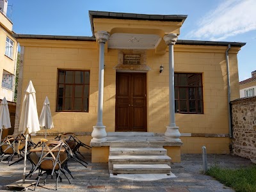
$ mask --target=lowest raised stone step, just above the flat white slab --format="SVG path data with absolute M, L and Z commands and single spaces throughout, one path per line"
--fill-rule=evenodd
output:
M 113 164 L 113 174 L 170 174 L 171 167 L 167 164 Z

